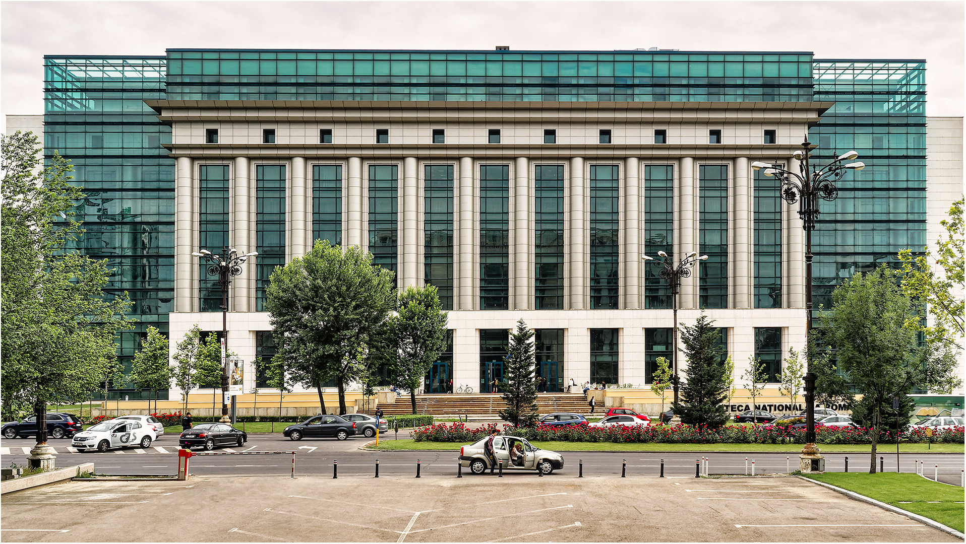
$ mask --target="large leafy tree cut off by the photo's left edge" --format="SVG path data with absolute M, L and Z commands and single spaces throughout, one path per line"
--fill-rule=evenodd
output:
M 130 302 L 104 294 L 106 260 L 68 248 L 83 232 L 70 162 L 55 153 L 44 167 L 30 132 L 5 135 L 0 147 L 3 412 L 32 410 L 43 421 L 48 403 L 79 401 L 110 379 Z

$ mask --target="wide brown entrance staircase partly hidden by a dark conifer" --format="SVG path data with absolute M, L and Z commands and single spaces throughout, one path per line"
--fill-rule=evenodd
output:
M 412 403 L 408 395 L 396 398 L 391 404 L 380 404 L 385 416 L 412 414 Z M 418 394 L 416 412 L 433 416 L 469 416 L 476 419 L 497 419 L 500 410 L 506 407 L 500 394 Z M 537 394 L 537 412 L 574 412 L 588 414 L 590 407 L 582 393 L 541 393 Z

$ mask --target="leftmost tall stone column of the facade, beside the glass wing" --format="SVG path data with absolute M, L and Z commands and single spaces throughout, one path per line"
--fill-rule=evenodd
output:
M 175 312 L 194 312 L 196 295 L 195 271 L 199 258 L 192 256 L 194 247 L 194 165 L 190 157 L 178 157 L 175 163 Z

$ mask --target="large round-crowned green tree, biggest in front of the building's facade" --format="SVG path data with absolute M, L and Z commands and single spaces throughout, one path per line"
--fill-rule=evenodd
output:
M 275 268 L 270 282 L 272 337 L 288 379 L 315 388 L 323 410 L 322 384 L 334 379 L 345 414 L 346 384 L 362 371 L 396 306 L 392 272 L 373 266 L 372 254 L 358 247 L 319 240 L 305 257 Z

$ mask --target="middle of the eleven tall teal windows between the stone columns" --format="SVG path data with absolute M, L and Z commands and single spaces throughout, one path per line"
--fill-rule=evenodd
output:
M 480 310 L 506 310 L 510 296 L 510 167 L 480 166 Z

